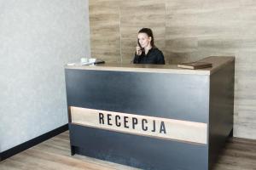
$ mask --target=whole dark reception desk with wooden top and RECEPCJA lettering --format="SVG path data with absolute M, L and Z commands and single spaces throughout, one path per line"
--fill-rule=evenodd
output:
M 66 66 L 71 152 L 143 169 L 207 170 L 232 134 L 234 57 L 212 68 Z

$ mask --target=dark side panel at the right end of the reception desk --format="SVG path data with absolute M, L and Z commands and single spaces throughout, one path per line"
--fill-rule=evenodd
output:
M 233 128 L 235 61 L 211 75 L 209 112 L 209 162 L 218 159 Z

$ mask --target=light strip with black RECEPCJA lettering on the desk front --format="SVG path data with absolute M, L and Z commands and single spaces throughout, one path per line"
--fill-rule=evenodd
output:
M 207 123 L 70 107 L 72 123 L 152 138 L 207 144 Z

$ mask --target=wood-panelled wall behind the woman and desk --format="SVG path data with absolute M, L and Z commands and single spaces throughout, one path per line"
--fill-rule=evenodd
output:
M 236 56 L 236 137 L 256 139 L 256 1 L 90 0 L 91 56 L 130 63 L 150 27 L 166 63 Z

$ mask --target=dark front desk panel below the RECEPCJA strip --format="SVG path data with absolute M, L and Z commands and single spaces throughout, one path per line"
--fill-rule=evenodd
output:
M 74 152 L 150 170 L 206 170 L 206 144 L 185 144 L 69 124 Z

